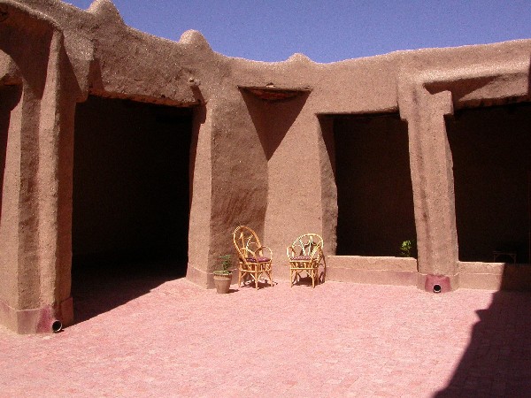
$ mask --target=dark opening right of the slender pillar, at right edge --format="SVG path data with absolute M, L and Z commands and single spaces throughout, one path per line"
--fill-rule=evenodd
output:
M 529 263 L 531 104 L 458 111 L 446 127 L 453 157 L 459 259 Z M 500 262 L 512 262 L 508 256 Z

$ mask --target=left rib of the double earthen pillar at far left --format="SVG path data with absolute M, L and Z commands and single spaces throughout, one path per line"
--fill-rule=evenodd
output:
M 20 325 L 27 323 L 25 310 L 35 309 L 40 303 L 35 209 L 38 109 L 38 98 L 24 84 L 20 101 L 10 115 L 5 149 L 0 262 L 7 278 L 0 282 L 2 322 L 19 333 L 32 332 L 31 325 Z

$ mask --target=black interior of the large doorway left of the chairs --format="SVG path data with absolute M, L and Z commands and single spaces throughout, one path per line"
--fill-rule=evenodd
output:
M 78 104 L 74 302 L 76 293 L 91 283 L 116 290 L 121 281 L 136 279 L 148 284 L 135 287 L 131 294 L 138 295 L 139 289 L 149 291 L 160 278 L 185 275 L 191 131 L 189 109 L 96 96 Z M 97 290 L 90 289 L 91 295 Z

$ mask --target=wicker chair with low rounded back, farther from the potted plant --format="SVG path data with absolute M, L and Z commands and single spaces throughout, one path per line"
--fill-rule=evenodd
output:
M 323 238 L 317 233 L 304 233 L 296 238 L 291 246 L 286 249 L 289 259 L 289 282 L 290 286 L 296 283 L 296 279 L 301 278 L 301 273 L 305 272 L 312 278 L 312 287 L 315 282 L 319 283 L 319 266 L 322 263 L 323 272 L 320 275 L 324 281 L 327 272 L 327 264 L 323 255 Z

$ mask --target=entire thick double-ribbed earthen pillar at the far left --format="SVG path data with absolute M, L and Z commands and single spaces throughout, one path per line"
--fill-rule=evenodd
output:
M 1 66 L 20 94 L 2 131 L 0 323 L 18 333 L 46 333 L 56 321 L 73 321 L 73 114 L 79 88 L 58 28 L 7 11 L 0 50 L 8 61 Z

